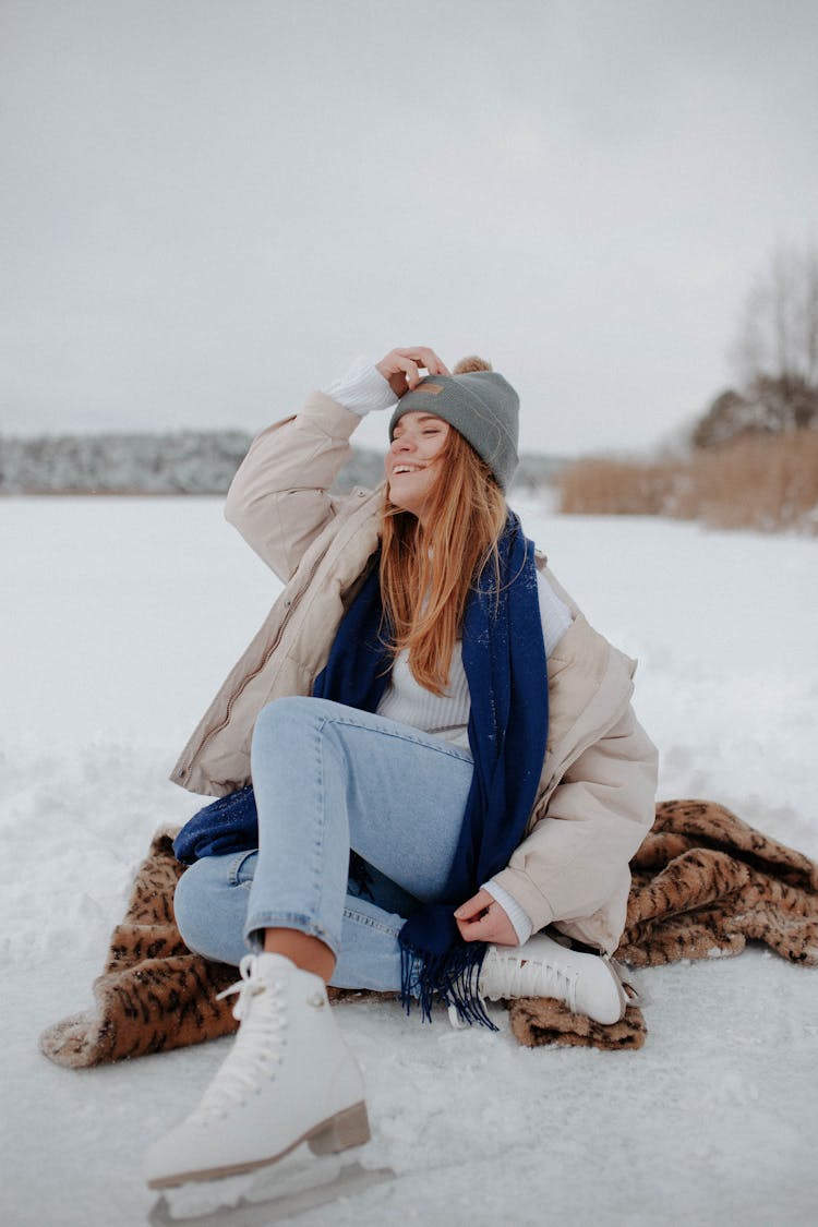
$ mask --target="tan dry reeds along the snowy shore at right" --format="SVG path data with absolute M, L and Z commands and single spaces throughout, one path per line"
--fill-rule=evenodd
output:
M 748 434 L 688 460 L 579 460 L 558 475 L 557 488 L 569 514 L 818 533 L 818 432 Z

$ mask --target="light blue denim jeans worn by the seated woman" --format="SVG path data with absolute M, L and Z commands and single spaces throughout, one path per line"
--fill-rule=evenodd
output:
M 174 909 L 185 944 L 238 964 L 264 929 L 298 929 L 336 955 L 331 984 L 400 990 L 397 934 L 418 903 L 443 898 L 468 751 L 329 699 L 282 698 L 259 713 L 251 769 L 259 849 L 183 874 Z M 351 848 L 365 887 L 348 877 Z

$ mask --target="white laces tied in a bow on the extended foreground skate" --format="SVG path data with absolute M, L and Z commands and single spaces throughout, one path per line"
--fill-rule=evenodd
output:
M 242 978 L 216 998 L 220 1001 L 238 994 L 233 1017 L 240 1026 L 229 1056 L 191 1114 L 191 1119 L 201 1123 L 243 1103 L 255 1092 L 281 1060 L 286 1043 L 283 987 L 258 974 L 255 955 L 244 956 L 239 974 Z

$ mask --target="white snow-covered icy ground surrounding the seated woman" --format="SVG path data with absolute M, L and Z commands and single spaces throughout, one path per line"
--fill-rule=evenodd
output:
M 818 858 L 818 541 L 522 510 L 640 659 L 660 796 L 717 799 Z M 6 499 L 0 541 L 0 1221 L 130 1227 L 156 1200 L 143 1146 L 229 1040 L 70 1071 L 37 1037 L 90 1004 L 151 833 L 196 807 L 167 773 L 278 585 L 211 499 Z M 361 1161 L 396 1179 L 299 1225 L 818 1221 L 818 972 L 752 950 L 640 979 L 635 1054 L 341 1007 L 369 1091 Z

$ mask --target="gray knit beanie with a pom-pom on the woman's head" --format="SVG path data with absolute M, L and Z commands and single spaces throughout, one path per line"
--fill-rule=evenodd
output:
M 494 474 L 500 490 L 508 490 L 519 464 L 520 398 L 491 367 L 462 369 L 476 362 L 482 360 L 464 360 L 455 367 L 459 374 L 427 375 L 417 388 L 401 396 L 389 423 L 389 438 L 391 440 L 403 413 L 434 413 L 471 443 Z

